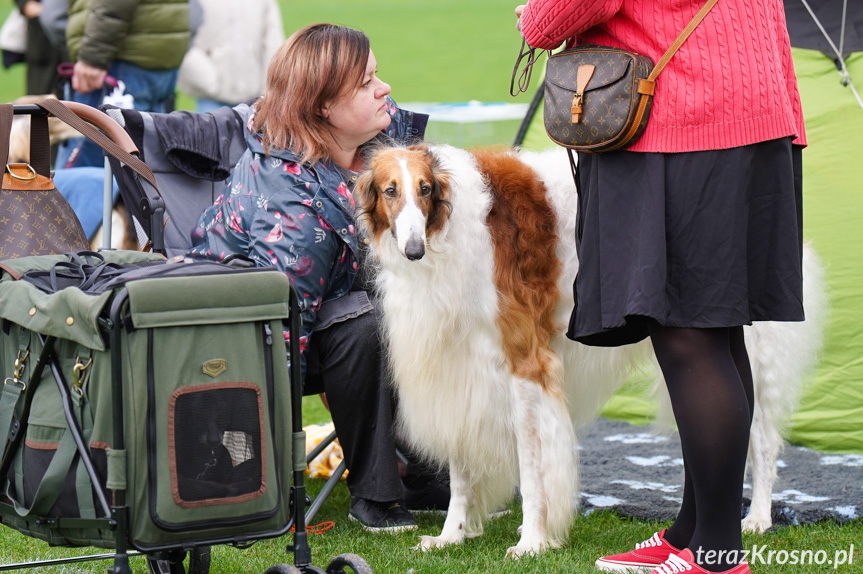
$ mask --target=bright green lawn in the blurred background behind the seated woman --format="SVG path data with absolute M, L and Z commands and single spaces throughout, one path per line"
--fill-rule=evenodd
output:
M 365 31 L 396 101 L 526 102 L 509 95 L 521 38 L 516 2 L 500 0 L 280 0 L 286 34 L 314 22 Z M 0 4 L 5 19 L 11 2 Z M 234 39 L 232 39 L 234 40 Z M 24 93 L 24 65 L 0 70 L 0 101 Z M 178 107 L 191 101 L 180 98 Z

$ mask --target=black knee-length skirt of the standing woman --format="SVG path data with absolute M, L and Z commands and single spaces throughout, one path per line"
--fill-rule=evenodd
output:
M 618 346 L 669 327 L 801 321 L 801 149 L 783 138 L 676 154 L 579 154 L 568 336 Z

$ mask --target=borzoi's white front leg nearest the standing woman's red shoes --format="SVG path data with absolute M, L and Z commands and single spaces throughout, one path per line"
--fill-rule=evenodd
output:
M 507 549 L 506 555 L 518 558 L 523 554 L 539 554 L 548 548 L 548 506 L 541 467 L 539 404 L 542 389 L 537 383 L 523 379 L 517 379 L 515 389 L 515 434 L 523 517 L 521 538 L 518 544 Z

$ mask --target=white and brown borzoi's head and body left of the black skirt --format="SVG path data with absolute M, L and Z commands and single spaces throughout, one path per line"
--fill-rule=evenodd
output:
M 400 426 L 449 466 L 443 530 L 420 547 L 479 536 L 516 486 L 523 522 L 507 554 L 560 546 L 577 502 L 575 433 L 651 356 L 649 343 L 589 348 L 564 336 L 578 267 L 565 155 L 385 148 L 354 196 Z

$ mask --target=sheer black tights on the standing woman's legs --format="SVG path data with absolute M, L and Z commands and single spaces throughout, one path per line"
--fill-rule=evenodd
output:
M 706 553 L 724 550 L 727 556 L 743 547 L 740 511 L 754 407 L 743 327 L 652 323 L 650 338 L 671 396 L 685 471 L 683 504 L 665 538 L 692 550 L 700 566 L 727 570 L 734 564 L 707 560 Z

